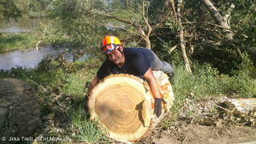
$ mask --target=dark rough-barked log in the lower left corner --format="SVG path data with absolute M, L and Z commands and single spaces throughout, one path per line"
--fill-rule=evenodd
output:
M 14 136 L 32 136 L 40 120 L 40 105 L 35 91 L 20 79 L 0 79 L 0 143 L 19 143 L 11 140 Z

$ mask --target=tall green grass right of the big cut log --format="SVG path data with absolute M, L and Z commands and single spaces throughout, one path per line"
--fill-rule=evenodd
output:
M 239 95 L 243 98 L 256 97 L 256 78 L 253 74 L 255 67 L 250 63 L 242 63 L 240 71 L 234 71 L 232 76 L 219 74 L 216 68 L 208 63 L 200 65 L 193 63 L 193 74 L 185 71 L 184 64 L 178 64 L 175 68 L 175 106 L 172 112 L 180 109 L 182 101 L 187 98 L 203 99 L 206 96 L 231 96 Z

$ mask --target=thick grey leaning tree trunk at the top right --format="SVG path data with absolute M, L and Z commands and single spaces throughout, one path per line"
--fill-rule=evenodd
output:
M 226 15 L 226 17 L 223 17 L 218 10 L 216 9 L 215 6 L 213 6 L 213 4 L 211 3 L 210 0 L 199 0 L 201 3 L 203 3 L 206 6 L 206 9 L 208 9 L 208 11 L 210 12 L 210 14 L 213 16 L 213 19 L 215 20 L 215 22 L 217 24 L 219 24 L 221 27 L 224 27 L 222 29 L 222 32 L 224 32 L 224 35 L 226 36 L 226 38 L 232 42 L 231 43 L 231 47 L 234 48 L 234 50 L 236 50 L 237 55 L 240 58 L 240 61 L 243 60 L 242 58 L 242 53 L 239 50 L 239 48 L 234 45 L 233 42 L 236 42 L 236 40 L 234 39 L 234 33 L 230 30 L 230 24 L 229 24 L 229 14 Z

